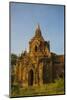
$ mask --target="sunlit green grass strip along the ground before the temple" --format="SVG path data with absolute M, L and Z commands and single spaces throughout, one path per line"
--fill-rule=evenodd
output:
M 56 80 L 55 83 L 41 86 L 29 86 L 26 88 L 13 87 L 11 97 L 37 96 L 37 95 L 57 95 L 64 94 L 64 80 Z

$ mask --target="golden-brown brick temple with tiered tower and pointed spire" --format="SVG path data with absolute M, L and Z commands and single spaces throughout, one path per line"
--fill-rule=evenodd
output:
M 16 62 L 15 79 L 22 87 L 53 82 L 53 64 L 50 42 L 43 38 L 38 25 L 29 41 L 29 52 L 21 54 Z

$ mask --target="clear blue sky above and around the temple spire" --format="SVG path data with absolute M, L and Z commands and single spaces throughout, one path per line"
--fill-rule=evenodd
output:
M 29 50 L 29 41 L 40 25 L 44 40 L 50 41 L 50 51 L 64 54 L 64 6 L 42 4 L 10 4 L 11 53 Z

